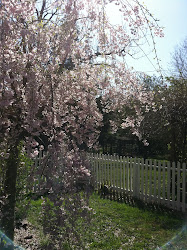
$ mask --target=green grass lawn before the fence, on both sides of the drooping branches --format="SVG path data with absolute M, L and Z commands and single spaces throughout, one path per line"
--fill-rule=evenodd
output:
M 36 215 L 40 206 L 41 200 L 32 201 L 28 212 L 28 220 L 38 227 L 38 230 L 41 230 L 41 227 Z M 90 225 L 86 232 L 79 228 L 84 249 L 156 249 L 169 242 L 185 224 L 184 216 L 180 213 L 156 210 L 150 206 L 139 208 L 102 199 L 96 193 L 90 197 L 90 207 L 94 211 Z M 47 242 L 44 236 L 42 237 L 41 249 L 45 249 Z M 164 249 L 187 249 L 186 231 L 175 238 L 174 247 L 167 245 Z

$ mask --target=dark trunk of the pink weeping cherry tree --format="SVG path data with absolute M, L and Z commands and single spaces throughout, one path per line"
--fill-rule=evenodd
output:
M 12 146 L 7 159 L 7 170 L 5 176 L 4 196 L 5 202 L 2 206 L 1 228 L 11 239 L 14 239 L 14 217 L 16 203 L 16 179 L 18 169 L 18 146 Z

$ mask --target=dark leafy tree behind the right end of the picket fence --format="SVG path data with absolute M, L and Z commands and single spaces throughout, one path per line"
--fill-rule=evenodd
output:
M 186 80 L 173 77 L 165 79 L 164 83 L 152 80 L 156 83 L 149 90 L 153 95 L 152 107 L 140 104 L 144 119 L 137 130 L 147 144 L 143 150 L 146 157 L 185 162 Z

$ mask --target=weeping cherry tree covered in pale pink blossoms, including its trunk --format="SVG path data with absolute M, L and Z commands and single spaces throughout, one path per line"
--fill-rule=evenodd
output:
M 111 24 L 110 5 L 123 24 Z M 76 178 L 90 176 L 81 152 L 98 138 L 96 97 L 105 112 L 120 112 L 132 96 L 145 103 L 125 56 L 147 34 L 163 34 L 137 0 L 2 0 L 0 16 L 1 225 L 13 239 L 20 142 L 29 157 L 47 151 L 42 174 L 48 180 L 60 175 L 64 190 L 75 191 Z

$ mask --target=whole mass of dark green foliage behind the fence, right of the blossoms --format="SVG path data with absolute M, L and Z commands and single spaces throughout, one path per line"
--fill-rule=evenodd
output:
M 136 101 L 136 106 L 144 117 L 137 129 L 149 145 L 145 146 L 141 140 L 138 140 L 130 128 L 120 128 L 120 124 L 126 117 L 136 116 L 135 103 L 132 103 L 132 107 L 128 104 L 124 106 L 122 113 L 104 113 L 99 138 L 103 153 L 186 162 L 187 80 L 146 76 L 140 77 L 139 84 L 153 96 L 152 104 L 147 105 L 147 108 L 146 105 Z M 99 100 L 98 106 L 102 108 Z M 114 134 L 111 133 L 110 120 L 119 124 Z

